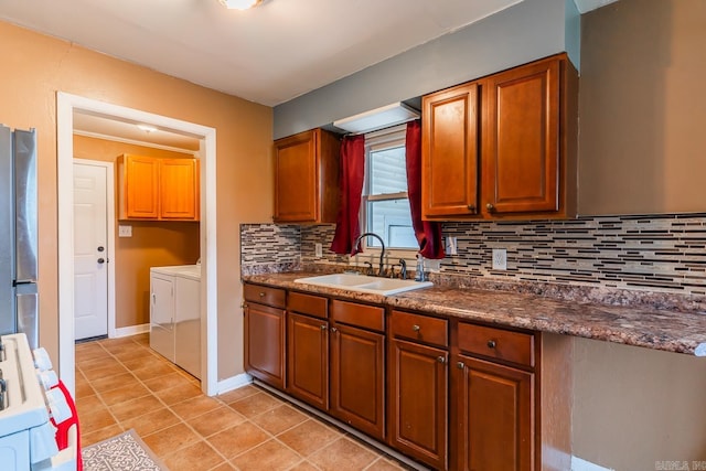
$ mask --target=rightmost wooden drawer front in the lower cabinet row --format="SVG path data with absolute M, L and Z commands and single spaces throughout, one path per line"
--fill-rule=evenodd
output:
M 459 322 L 462 352 L 534 367 L 534 335 Z

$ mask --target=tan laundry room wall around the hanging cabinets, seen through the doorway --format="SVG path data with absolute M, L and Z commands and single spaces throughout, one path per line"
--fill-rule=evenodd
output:
M 77 159 L 115 162 L 121 153 L 148 157 L 186 158 L 189 153 L 74 136 Z M 115 182 L 116 208 L 119 188 Z M 132 237 L 118 237 L 118 224 L 132 226 Z M 115 225 L 116 328 L 140 325 L 150 320 L 150 267 L 191 265 L 199 259 L 199 223 L 117 222 Z

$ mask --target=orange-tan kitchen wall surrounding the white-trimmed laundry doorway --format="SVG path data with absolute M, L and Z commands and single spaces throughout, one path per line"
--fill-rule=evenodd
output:
M 40 341 L 58 362 L 56 92 L 216 129 L 218 378 L 242 372 L 239 224 L 271 221 L 272 110 L 0 22 L 0 122 L 38 129 Z

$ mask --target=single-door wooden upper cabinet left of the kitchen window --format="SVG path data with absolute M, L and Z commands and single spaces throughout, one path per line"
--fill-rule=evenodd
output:
M 340 148 L 339 138 L 323 129 L 275 141 L 276 223 L 335 223 Z

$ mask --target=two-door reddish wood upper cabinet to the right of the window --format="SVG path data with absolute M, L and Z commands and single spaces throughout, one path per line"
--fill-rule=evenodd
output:
M 424 97 L 422 217 L 574 216 L 577 83 L 559 54 Z

